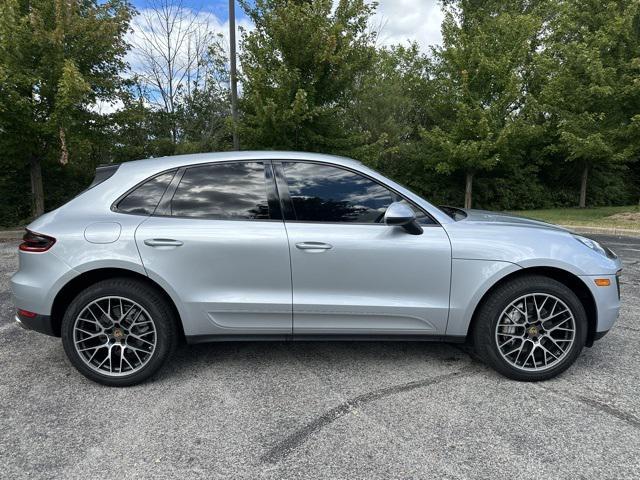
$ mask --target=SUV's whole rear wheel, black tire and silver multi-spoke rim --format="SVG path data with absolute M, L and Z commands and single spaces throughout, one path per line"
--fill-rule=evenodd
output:
M 177 329 L 164 298 L 147 284 L 109 279 L 82 291 L 62 320 L 62 344 L 71 363 L 104 385 L 140 383 L 175 349 Z

